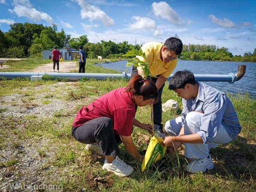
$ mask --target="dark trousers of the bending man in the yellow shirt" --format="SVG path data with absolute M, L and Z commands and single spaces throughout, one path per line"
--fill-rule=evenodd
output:
M 133 77 L 135 74 L 138 74 L 138 70 L 136 67 L 133 66 L 132 68 L 132 74 L 131 77 Z M 156 83 L 157 78 L 151 77 L 151 80 Z M 162 92 L 163 87 L 165 86 L 165 83 L 161 86 L 161 88 L 158 90 L 159 94 L 159 100 L 157 103 L 153 104 L 153 113 L 154 113 L 154 130 L 163 130 L 163 124 L 162 124 Z M 135 107 L 135 110 L 137 111 L 138 106 Z

